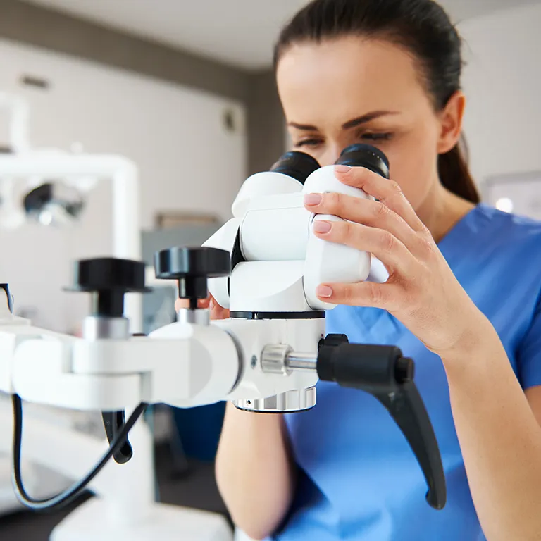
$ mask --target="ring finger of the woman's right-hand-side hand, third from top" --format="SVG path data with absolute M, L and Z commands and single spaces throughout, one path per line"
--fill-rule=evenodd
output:
M 392 233 L 383 229 L 344 220 L 315 220 L 313 232 L 320 239 L 371 252 L 394 272 L 411 274 L 417 264 L 411 251 Z

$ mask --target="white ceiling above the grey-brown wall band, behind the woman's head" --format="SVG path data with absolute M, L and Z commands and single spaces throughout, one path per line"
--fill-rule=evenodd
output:
M 307 0 L 27 0 L 232 66 L 270 66 L 280 27 Z M 540 0 L 441 0 L 460 21 Z

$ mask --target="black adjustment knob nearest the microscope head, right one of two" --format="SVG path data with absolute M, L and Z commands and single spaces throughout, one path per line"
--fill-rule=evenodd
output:
M 154 270 L 156 278 L 177 280 L 178 297 L 196 309 L 198 299 L 209 294 L 208 279 L 230 275 L 231 256 L 218 248 L 169 248 L 154 254 Z

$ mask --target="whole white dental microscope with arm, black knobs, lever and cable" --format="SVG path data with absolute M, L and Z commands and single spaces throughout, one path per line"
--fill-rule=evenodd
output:
M 347 147 L 337 163 L 389 178 L 387 158 L 375 147 Z M 301 412 L 318 407 L 317 383 L 323 380 L 369 392 L 385 406 L 416 455 L 428 504 L 444 507 L 441 456 L 414 383 L 413 360 L 397 347 L 325 335 L 325 311 L 335 306 L 317 297 L 319 284 L 385 276 L 371 254 L 313 234 L 316 220 L 341 219 L 306 210 L 304 194 L 314 192 L 369 197 L 339 182 L 333 166 L 288 152 L 245 180 L 233 218 L 202 247 L 156 253 L 156 278 L 175 280 L 187 308 L 178 311 L 178 321 L 148 336 L 131 335 L 124 316 L 125 294 L 147 291 L 140 261 L 75 263 L 72 289 L 92 298 L 81 338 L 15 318 L 11 292 L 2 285 L 0 390 L 13 396 L 13 484 L 23 504 L 38 510 L 66 504 L 109 459 L 125 467 L 137 456 L 128 433 L 149 404 L 189 408 L 226 400 L 253 414 Z M 209 310 L 198 307 L 209 292 L 230 318 L 210 321 Z M 109 442 L 104 456 L 79 483 L 50 499 L 32 499 L 24 488 L 23 400 L 102 412 Z

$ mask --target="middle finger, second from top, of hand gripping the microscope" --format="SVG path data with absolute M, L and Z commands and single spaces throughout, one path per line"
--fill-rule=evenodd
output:
M 306 209 L 313 213 L 339 216 L 344 220 L 386 230 L 410 249 L 414 249 L 418 240 L 418 233 L 411 229 L 404 218 L 379 201 L 330 193 L 309 194 L 305 204 Z

